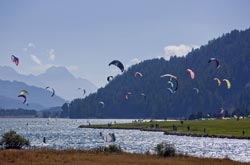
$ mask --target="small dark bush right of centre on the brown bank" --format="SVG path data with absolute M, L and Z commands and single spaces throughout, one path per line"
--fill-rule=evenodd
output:
M 155 147 L 155 151 L 158 156 L 175 156 L 175 147 L 173 144 L 162 142 L 160 144 L 157 144 L 157 146 Z

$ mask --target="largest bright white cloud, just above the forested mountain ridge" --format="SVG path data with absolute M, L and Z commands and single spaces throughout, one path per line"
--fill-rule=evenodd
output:
M 164 58 L 169 60 L 171 56 L 186 56 L 192 49 L 199 48 L 197 45 L 169 45 L 164 48 Z

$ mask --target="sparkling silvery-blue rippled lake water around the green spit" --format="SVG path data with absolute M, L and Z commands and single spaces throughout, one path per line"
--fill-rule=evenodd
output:
M 89 129 L 78 128 L 88 122 L 107 124 L 108 122 L 129 123 L 122 119 L 39 119 L 39 118 L 1 118 L 0 136 L 14 130 L 29 139 L 33 148 L 54 149 L 92 149 L 110 144 L 119 145 L 126 152 L 154 152 L 154 147 L 165 141 L 174 144 L 180 153 L 197 157 L 225 158 L 250 162 L 250 140 L 219 139 L 163 135 L 162 132 L 139 130 Z M 115 142 L 105 142 L 100 136 L 114 133 Z M 46 137 L 46 144 L 43 143 Z

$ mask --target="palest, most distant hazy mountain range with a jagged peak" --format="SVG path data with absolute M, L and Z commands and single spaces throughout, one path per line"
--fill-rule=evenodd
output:
M 0 66 L 0 75 L 2 80 L 21 81 L 41 88 L 50 86 L 55 89 L 58 96 L 66 100 L 82 98 L 97 89 L 90 81 L 75 78 L 65 67 L 51 67 L 45 73 L 35 76 L 22 75 L 11 67 Z M 85 89 L 86 94 L 83 96 L 83 92 L 78 88 Z

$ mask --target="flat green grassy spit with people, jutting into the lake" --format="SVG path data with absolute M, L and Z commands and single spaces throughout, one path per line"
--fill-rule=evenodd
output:
M 173 129 L 173 125 L 177 130 Z M 189 130 L 188 130 L 189 126 Z M 164 131 L 166 134 L 180 134 L 192 136 L 214 136 L 231 138 L 250 138 L 250 118 L 215 119 L 215 120 L 186 120 L 180 121 L 150 121 L 140 123 L 108 125 L 81 125 L 80 128 L 105 128 L 105 129 L 139 129 L 144 131 Z M 204 131 L 205 128 L 205 131 Z M 243 130 L 245 134 L 243 135 Z

